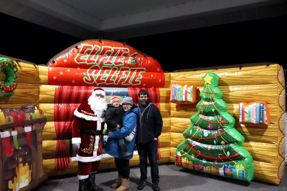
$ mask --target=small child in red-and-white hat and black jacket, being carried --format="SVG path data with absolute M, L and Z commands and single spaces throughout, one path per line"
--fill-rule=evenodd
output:
M 112 96 L 111 104 L 108 104 L 108 109 L 105 112 L 107 132 L 113 132 L 120 130 L 120 124 L 123 117 L 123 107 L 120 105 L 120 99 Z M 120 151 L 123 158 L 130 156 L 132 153 L 127 152 L 126 144 L 123 138 L 119 138 Z

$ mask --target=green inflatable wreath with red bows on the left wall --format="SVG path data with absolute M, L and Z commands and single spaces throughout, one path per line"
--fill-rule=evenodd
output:
M 2 84 L 0 79 L 0 97 L 14 96 L 15 89 L 18 84 L 18 68 L 17 64 L 9 58 L 0 58 L 0 72 L 6 73 L 5 82 Z

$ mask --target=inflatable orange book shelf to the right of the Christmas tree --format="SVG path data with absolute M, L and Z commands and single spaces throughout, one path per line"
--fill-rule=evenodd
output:
M 239 123 L 252 125 L 269 125 L 269 108 L 264 101 L 253 101 L 239 104 Z

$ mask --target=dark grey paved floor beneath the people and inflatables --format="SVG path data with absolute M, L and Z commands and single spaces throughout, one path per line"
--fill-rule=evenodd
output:
M 148 167 L 147 185 L 143 191 L 152 191 L 152 180 L 150 176 L 150 167 Z M 131 167 L 129 187 L 130 190 L 137 190 L 137 184 L 140 182 L 139 167 Z M 259 181 L 244 182 L 230 178 L 209 175 L 202 172 L 187 170 L 176 167 L 174 164 L 159 165 L 161 191 L 286 191 L 287 190 L 287 163 L 285 165 L 285 176 L 279 185 L 266 184 Z M 110 186 L 117 179 L 117 170 L 101 170 L 96 174 L 96 184 L 104 189 L 104 191 L 115 191 Z M 50 178 L 34 191 L 77 191 L 78 190 L 77 175 L 61 176 Z

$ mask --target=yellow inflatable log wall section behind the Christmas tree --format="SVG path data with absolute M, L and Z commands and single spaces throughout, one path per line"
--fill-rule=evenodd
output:
M 279 184 L 285 167 L 285 80 L 282 67 L 268 64 L 257 67 L 204 70 L 171 73 L 170 82 L 198 87 L 197 100 L 202 91 L 202 77 L 213 72 L 219 76 L 218 87 L 228 104 L 227 112 L 235 118 L 235 128 L 245 137 L 243 147 L 254 160 L 254 179 Z M 270 125 L 245 126 L 239 124 L 239 103 L 262 100 L 268 104 Z M 196 104 L 170 104 L 170 150 L 175 161 L 175 148 L 184 140 L 182 133 L 191 125 L 190 117 L 198 110 Z

